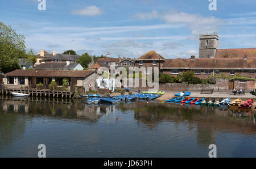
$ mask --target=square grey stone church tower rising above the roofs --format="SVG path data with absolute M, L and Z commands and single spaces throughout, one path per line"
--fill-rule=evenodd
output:
M 214 58 L 218 49 L 218 35 L 199 35 L 199 58 Z

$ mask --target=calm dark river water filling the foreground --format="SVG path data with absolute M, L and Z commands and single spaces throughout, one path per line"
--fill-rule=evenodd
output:
M 256 157 L 255 112 L 130 102 L 0 98 L 0 157 Z

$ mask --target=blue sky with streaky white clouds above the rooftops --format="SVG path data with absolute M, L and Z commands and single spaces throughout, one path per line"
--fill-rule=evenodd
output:
M 256 1 L 0 0 L 0 21 L 26 37 L 27 49 L 137 58 L 198 56 L 199 32 L 219 35 L 219 48 L 256 47 Z

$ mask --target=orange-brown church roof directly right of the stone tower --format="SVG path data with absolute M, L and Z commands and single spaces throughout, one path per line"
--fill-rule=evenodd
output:
M 243 48 L 243 49 L 218 49 L 216 58 L 243 58 L 256 57 L 256 48 Z

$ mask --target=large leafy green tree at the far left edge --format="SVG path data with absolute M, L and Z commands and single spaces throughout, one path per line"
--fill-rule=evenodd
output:
M 25 37 L 0 22 L 0 71 L 20 69 L 18 58 L 26 58 Z

